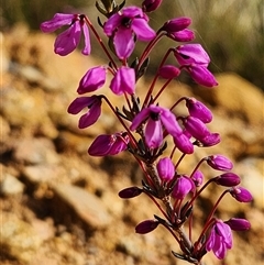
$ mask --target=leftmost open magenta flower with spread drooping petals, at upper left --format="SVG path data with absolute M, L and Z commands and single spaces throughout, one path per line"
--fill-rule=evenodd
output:
M 72 53 L 78 46 L 82 31 L 85 47 L 81 53 L 84 55 L 89 55 L 91 49 L 90 35 L 85 22 L 85 15 L 56 13 L 52 20 L 41 24 L 41 30 L 45 33 L 54 32 L 63 25 L 69 25 L 69 27 L 57 36 L 54 44 L 54 52 L 62 56 Z

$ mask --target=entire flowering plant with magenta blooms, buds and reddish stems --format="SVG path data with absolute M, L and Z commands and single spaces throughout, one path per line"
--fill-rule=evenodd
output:
M 250 229 L 245 219 L 231 218 L 228 221 L 216 217 L 216 209 L 221 199 L 230 194 L 239 202 L 250 202 L 252 196 L 249 190 L 238 186 L 240 177 L 231 169 L 232 162 L 221 155 L 204 157 L 190 173 L 180 173 L 179 165 L 195 148 L 210 147 L 220 142 L 218 133 L 210 132 L 207 123 L 212 121 L 211 111 L 195 98 L 182 97 L 168 109 L 160 106 L 158 98 L 167 85 L 177 78 L 183 70 L 199 85 L 217 86 L 215 76 L 208 70 L 210 58 L 200 44 L 188 43 L 195 34 L 188 26 L 189 18 L 175 18 L 165 22 L 158 30 L 153 30 L 148 24 L 147 12 L 155 11 L 162 0 L 144 0 L 142 7 L 118 5 L 114 0 L 96 2 L 98 11 L 106 16 L 99 25 L 102 33 L 109 38 L 106 46 L 99 33 L 85 14 L 56 13 L 50 21 L 43 22 L 43 32 L 53 32 L 68 25 L 61 33 L 54 44 L 54 51 L 61 56 L 66 56 L 78 46 L 81 33 L 85 47 L 81 53 L 89 55 L 91 52 L 91 31 L 106 53 L 109 64 L 95 66 L 87 70 L 77 88 L 80 97 L 76 98 L 68 107 L 68 112 L 77 114 L 87 110 L 79 119 L 79 128 L 86 129 L 100 118 L 101 104 L 106 102 L 123 126 L 123 131 L 112 134 L 98 135 L 88 148 L 91 156 L 117 155 L 123 151 L 132 154 L 142 172 L 142 187 L 128 187 L 119 192 L 123 199 L 138 197 L 145 194 L 160 209 L 162 217 L 154 214 L 154 219 L 145 220 L 135 228 L 136 233 L 148 233 L 163 225 L 175 239 L 182 253 L 172 252 L 177 258 L 193 264 L 201 264 L 207 252 L 212 251 L 222 260 L 227 251 L 232 247 L 231 230 L 243 231 Z M 136 82 L 146 73 L 150 56 L 155 45 L 167 37 L 179 44 L 169 48 L 153 78 L 145 97 L 136 96 Z M 133 52 L 138 41 L 146 42 L 140 57 L 133 59 Z M 167 57 L 175 57 L 175 65 L 166 64 Z M 129 63 L 131 62 L 132 63 Z M 95 91 L 107 82 L 107 74 L 111 75 L 109 88 L 124 100 L 120 111 L 105 95 L 95 95 Z M 165 79 L 165 85 L 154 93 L 158 78 Z M 89 95 L 89 96 L 81 96 Z M 175 114 L 175 109 L 180 102 L 186 103 L 187 115 Z M 167 141 L 173 141 L 174 146 L 168 148 Z M 168 156 L 164 152 L 169 153 Z M 179 158 L 176 161 L 175 153 Z M 216 177 L 204 183 L 204 174 L 199 169 L 202 163 L 220 172 Z M 191 236 L 191 224 L 195 218 L 195 202 L 200 194 L 211 184 L 227 187 L 215 202 L 210 213 L 206 217 L 204 228 L 198 239 Z M 188 231 L 185 228 L 188 224 Z

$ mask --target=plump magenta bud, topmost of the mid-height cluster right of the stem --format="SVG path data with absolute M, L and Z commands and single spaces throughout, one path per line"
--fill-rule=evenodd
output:
M 200 101 L 195 98 L 186 98 L 186 107 L 188 108 L 189 114 L 201 120 L 204 123 L 212 121 L 211 111 Z

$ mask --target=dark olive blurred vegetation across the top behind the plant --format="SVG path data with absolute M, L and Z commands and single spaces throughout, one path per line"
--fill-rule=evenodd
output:
M 140 3 L 139 0 L 127 1 Z M 118 2 L 120 3 L 120 2 Z M 9 31 L 18 22 L 26 23 L 37 31 L 40 23 L 50 20 L 56 12 L 77 10 L 91 16 L 95 1 L 82 0 L 9 0 L 0 8 L 1 31 Z M 157 13 L 150 14 L 151 24 L 157 29 L 164 21 L 187 15 L 193 19 L 195 42 L 204 45 L 211 56 L 213 73 L 235 71 L 257 87 L 264 89 L 264 10 L 262 0 L 177 0 L 164 1 Z M 172 8 L 173 7 L 173 8 Z M 91 11 L 91 12 L 89 12 Z M 161 15 L 162 14 L 162 15 Z M 165 51 L 163 42 L 160 54 L 152 60 L 158 62 Z M 166 42 L 167 45 L 174 45 Z M 160 49 L 158 49 L 160 51 Z M 186 77 L 187 78 L 187 77 Z M 185 80 L 187 81 L 187 80 Z

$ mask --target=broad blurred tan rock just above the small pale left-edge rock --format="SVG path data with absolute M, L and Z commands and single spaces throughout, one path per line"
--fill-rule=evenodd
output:
M 59 162 L 53 142 L 44 137 L 18 140 L 14 159 L 25 164 L 57 164 Z

